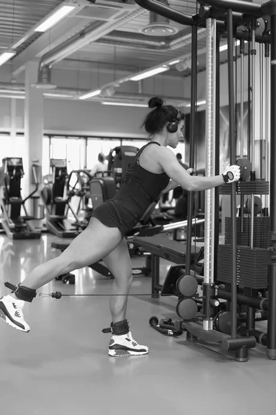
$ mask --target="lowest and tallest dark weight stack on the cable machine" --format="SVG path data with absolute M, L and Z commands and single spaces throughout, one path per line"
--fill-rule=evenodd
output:
M 217 280 L 232 283 L 232 246 L 219 245 Z M 237 284 L 264 289 L 268 286 L 268 252 L 262 248 L 237 246 Z

